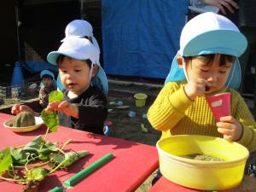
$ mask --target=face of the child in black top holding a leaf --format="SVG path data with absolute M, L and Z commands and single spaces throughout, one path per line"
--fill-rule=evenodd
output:
M 64 57 L 59 64 L 59 73 L 61 83 L 76 96 L 89 87 L 90 67 L 85 61 Z

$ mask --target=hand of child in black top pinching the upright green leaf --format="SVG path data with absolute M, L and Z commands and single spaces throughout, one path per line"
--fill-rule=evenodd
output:
M 67 116 L 73 116 L 74 118 L 79 118 L 79 108 L 67 101 L 63 102 L 50 102 L 45 111 L 57 110 L 59 112 L 65 113 Z

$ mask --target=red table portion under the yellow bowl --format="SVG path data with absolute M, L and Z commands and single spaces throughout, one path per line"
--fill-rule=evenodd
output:
M 153 187 L 148 192 L 209 192 L 206 190 L 189 189 L 172 183 L 165 177 L 154 183 Z M 220 192 L 220 191 L 219 191 Z M 239 186 L 234 189 L 221 190 L 221 192 L 256 192 L 256 178 L 245 176 Z

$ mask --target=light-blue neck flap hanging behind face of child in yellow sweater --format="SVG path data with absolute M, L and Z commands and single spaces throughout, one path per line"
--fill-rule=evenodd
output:
M 178 55 L 180 55 L 179 52 L 177 52 L 177 55 L 175 55 L 172 61 L 172 67 L 169 74 L 167 75 L 165 84 L 168 82 L 173 82 L 173 81 L 175 82 L 175 81 L 181 81 L 186 79 L 185 74 L 183 72 L 183 68 L 179 67 L 177 63 Z M 236 58 L 235 63 L 230 69 L 230 75 L 229 75 L 229 78 L 227 79 L 226 86 L 234 90 L 237 90 L 240 84 L 241 84 L 241 68 L 240 68 L 240 63 Z

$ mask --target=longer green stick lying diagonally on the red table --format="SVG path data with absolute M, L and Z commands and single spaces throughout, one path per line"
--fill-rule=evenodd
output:
M 112 159 L 113 154 L 106 154 L 100 160 L 96 160 L 90 166 L 87 166 L 82 171 L 75 174 L 73 177 L 70 177 L 66 182 L 64 182 L 64 185 L 66 187 L 74 186 L 75 184 L 82 181 L 85 177 L 89 176 L 90 173 L 95 172 L 98 168 L 102 167 L 104 164 L 108 163 L 108 161 Z

